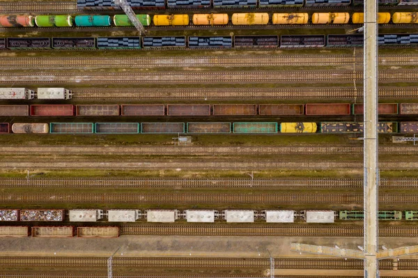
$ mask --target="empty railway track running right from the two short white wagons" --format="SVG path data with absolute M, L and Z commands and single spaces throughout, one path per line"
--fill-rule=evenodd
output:
M 362 98 L 362 88 L 75 88 L 74 100 L 260 100 Z M 418 98 L 417 87 L 380 87 L 379 98 Z

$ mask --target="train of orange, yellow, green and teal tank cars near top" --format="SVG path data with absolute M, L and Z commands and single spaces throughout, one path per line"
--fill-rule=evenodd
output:
M 151 25 L 151 15 L 137 15 L 143 26 Z M 353 24 L 364 23 L 364 13 L 233 13 L 233 25 L 267 25 L 267 24 Z M 378 23 L 388 24 L 390 13 L 378 13 Z M 0 15 L 0 27 L 92 27 L 92 26 L 133 26 L 127 15 Z M 229 15 L 226 13 L 194 14 L 192 21 L 189 15 L 153 15 L 154 26 L 187 26 L 187 25 L 227 25 Z M 416 24 L 418 13 L 402 12 L 392 15 L 394 24 Z

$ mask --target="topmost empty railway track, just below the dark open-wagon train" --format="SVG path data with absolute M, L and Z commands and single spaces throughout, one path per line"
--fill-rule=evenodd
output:
M 346 65 L 363 63 L 363 56 L 352 55 L 291 55 L 291 56 L 177 56 L 177 57 L 129 57 L 129 58 L 77 58 L 77 57 L 24 57 L 0 58 L 0 66 L 8 68 L 129 68 L 167 67 L 261 67 L 277 65 Z M 418 55 L 380 55 L 380 65 L 417 65 Z

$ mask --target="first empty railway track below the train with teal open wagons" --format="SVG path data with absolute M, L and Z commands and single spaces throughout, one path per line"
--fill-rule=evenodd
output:
M 54 155 L 331 155 L 362 154 L 363 146 L 0 146 L 0 153 Z M 418 155 L 414 146 L 380 146 L 382 155 Z

